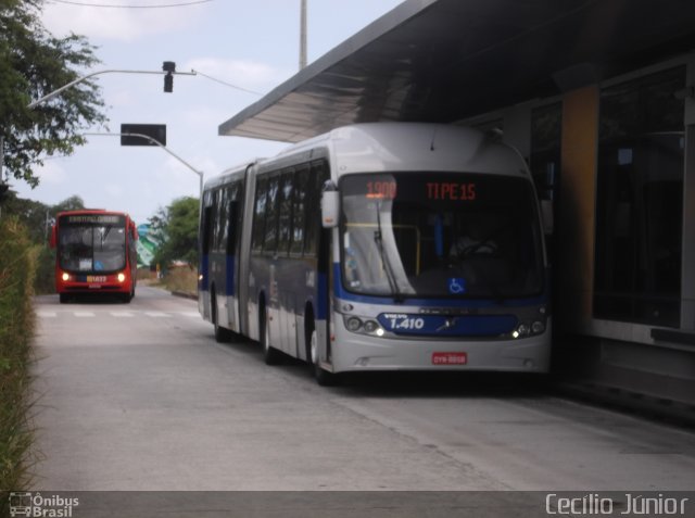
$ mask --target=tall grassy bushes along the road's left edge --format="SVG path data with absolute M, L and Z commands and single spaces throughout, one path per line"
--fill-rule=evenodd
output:
M 0 219 L 0 498 L 30 482 L 31 308 L 37 250 L 16 218 Z M 5 498 L 0 502 L 0 515 Z

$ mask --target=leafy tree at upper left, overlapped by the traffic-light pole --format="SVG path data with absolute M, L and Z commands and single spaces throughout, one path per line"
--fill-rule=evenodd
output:
M 106 117 L 99 88 L 89 80 L 33 110 L 31 100 L 77 79 L 99 60 L 83 36 L 55 38 L 39 20 L 43 0 L 0 0 L 0 137 L 8 173 L 36 187 L 33 166 L 71 154 L 80 135 Z M 79 72 L 78 72 L 79 71 Z

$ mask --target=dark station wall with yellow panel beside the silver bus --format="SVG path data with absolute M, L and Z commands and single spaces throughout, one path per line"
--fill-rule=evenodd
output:
M 695 54 L 460 124 L 554 202 L 554 370 L 695 408 Z

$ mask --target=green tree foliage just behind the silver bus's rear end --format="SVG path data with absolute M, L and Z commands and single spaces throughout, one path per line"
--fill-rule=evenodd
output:
M 184 261 L 189 265 L 198 264 L 198 214 L 197 198 L 179 198 L 165 211 L 150 218 L 151 229 L 162 232 L 164 241 L 157 250 L 154 262 L 168 265 Z

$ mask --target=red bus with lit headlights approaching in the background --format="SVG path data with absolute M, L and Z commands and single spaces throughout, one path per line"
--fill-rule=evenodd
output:
M 138 239 L 125 213 L 102 210 L 58 214 L 51 232 L 55 248 L 55 291 L 61 303 L 85 293 L 135 296 Z

